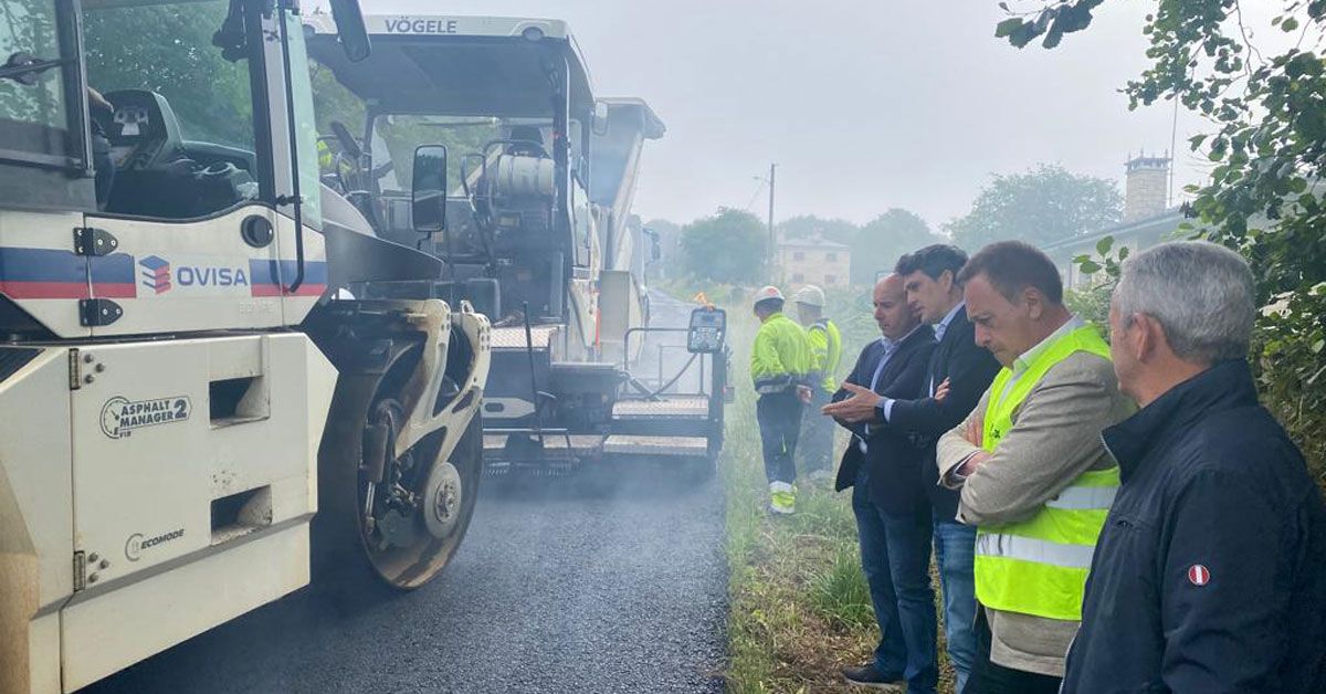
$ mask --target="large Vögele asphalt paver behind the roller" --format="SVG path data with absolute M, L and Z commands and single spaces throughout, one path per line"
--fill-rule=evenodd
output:
M 642 287 L 658 245 L 643 243 L 630 207 L 643 142 L 660 138 L 663 122 L 642 100 L 595 100 L 562 21 L 366 23 L 374 54 L 351 62 L 326 17 L 306 20 L 313 57 L 365 114 L 358 135 L 330 123 L 339 154 L 328 176 L 379 234 L 446 263 L 434 296 L 495 318 L 488 468 L 566 470 L 609 455 L 712 464 L 723 445 L 723 312 L 693 316 L 688 366 L 703 376 L 692 393 L 675 391 L 675 374 L 631 373 L 644 336 L 660 330 L 647 326 Z M 444 224 L 424 238 L 402 163 L 442 141 L 459 184 Z

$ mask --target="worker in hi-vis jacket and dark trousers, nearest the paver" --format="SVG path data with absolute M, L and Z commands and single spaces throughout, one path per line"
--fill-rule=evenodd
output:
M 754 295 L 754 314 L 760 332 L 751 348 L 751 378 L 756 419 L 764 449 L 764 474 L 769 480 L 769 510 L 796 512 L 792 483 L 797 468 L 792 462 L 801 430 L 801 410 L 810 401 L 810 344 L 805 330 L 782 314 L 782 292 L 765 287 Z

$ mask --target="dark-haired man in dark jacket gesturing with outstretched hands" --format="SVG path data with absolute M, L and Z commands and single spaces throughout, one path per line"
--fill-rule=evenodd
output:
M 967 320 L 963 287 L 957 283 L 957 273 L 965 264 L 967 253 L 944 244 L 927 245 L 898 260 L 895 272 L 903 277 L 908 304 L 923 322 L 935 326 L 939 345 L 915 394 L 855 394 L 843 402 L 838 415 L 910 433 L 926 446 L 924 464 L 918 475 L 934 511 L 944 633 L 957 691 L 967 682 L 976 658 L 976 528 L 957 521 L 957 492 L 939 484 L 935 442 L 967 418 L 1000 369 L 994 356 L 976 344 L 976 330 Z M 941 397 L 936 398 L 936 391 Z

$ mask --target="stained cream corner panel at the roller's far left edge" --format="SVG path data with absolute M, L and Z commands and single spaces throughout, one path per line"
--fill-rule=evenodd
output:
M 52 691 L 73 593 L 68 350 L 0 382 L 0 691 Z

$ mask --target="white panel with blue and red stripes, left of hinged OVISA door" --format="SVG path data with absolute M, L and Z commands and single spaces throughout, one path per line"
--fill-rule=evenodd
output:
M 80 212 L 0 211 L 0 293 L 60 337 L 86 337 L 88 259 L 74 253 Z M 131 283 L 133 280 L 126 279 Z

